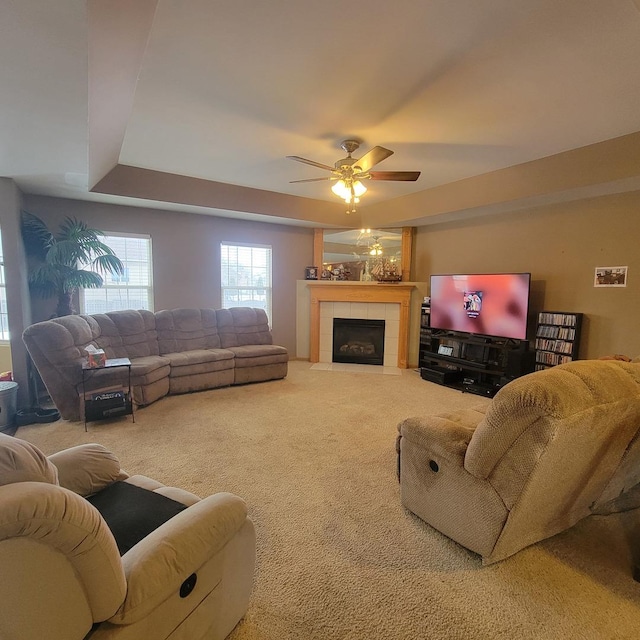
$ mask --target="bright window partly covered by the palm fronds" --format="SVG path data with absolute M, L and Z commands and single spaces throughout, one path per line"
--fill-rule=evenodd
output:
M 151 238 L 106 235 L 102 242 L 122 260 L 124 273 L 106 274 L 100 289 L 82 289 L 82 313 L 105 313 L 121 309 L 153 311 Z

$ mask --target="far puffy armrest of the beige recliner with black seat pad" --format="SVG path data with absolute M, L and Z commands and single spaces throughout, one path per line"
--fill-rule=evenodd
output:
M 114 453 L 101 444 L 81 444 L 48 456 L 58 469 L 58 483 L 81 496 L 96 493 L 128 474 Z

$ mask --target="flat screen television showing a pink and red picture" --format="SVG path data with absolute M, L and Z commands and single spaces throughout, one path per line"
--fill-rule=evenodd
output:
M 530 273 L 431 276 L 431 327 L 525 340 Z

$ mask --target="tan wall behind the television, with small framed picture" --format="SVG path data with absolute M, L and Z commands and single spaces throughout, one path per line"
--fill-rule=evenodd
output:
M 640 192 L 605 196 L 420 227 L 413 277 L 531 272 L 533 313 L 548 309 L 585 314 L 580 358 L 637 356 L 639 241 Z M 625 288 L 593 286 L 595 268 L 607 266 L 629 267 Z

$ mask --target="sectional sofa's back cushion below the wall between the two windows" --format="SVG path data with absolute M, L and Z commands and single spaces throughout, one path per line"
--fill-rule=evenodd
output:
M 172 309 L 156 313 L 161 354 L 219 349 L 218 321 L 214 309 Z

